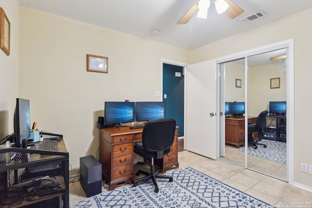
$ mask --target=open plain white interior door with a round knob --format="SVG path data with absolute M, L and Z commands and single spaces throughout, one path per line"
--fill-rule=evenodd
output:
M 187 66 L 186 150 L 216 159 L 216 60 Z

